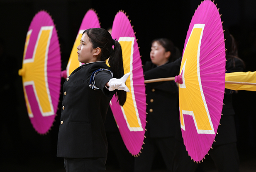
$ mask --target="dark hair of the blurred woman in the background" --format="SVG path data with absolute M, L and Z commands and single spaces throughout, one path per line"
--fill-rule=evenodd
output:
M 154 42 L 157 42 L 158 44 L 162 45 L 166 52 L 167 51 L 171 52 L 171 56 L 168 59 L 169 62 L 174 62 L 176 59 L 178 59 L 181 56 L 180 50 L 176 46 L 174 46 L 171 40 L 167 38 L 157 38 L 151 42 L 151 45 Z

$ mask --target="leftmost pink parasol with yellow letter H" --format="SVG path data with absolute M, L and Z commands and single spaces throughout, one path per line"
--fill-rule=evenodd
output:
M 45 11 L 38 12 L 29 26 L 19 75 L 29 119 L 39 134 L 46 134 L 59 104 L 61 53 L 54 22 Z

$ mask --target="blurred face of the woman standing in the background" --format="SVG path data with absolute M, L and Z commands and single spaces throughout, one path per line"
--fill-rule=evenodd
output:
M 158 42 L 154 42 L 151 45 L 150 51 L 150 59 L 151 62 L 155 65 L 161 66 L 165 64 L 171 55 L 170 51 L 165 51 L 162 45 L 158 44 Z

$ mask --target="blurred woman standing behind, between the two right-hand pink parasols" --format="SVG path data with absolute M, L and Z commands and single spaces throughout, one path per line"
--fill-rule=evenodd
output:
M 180 57 L 180 51 L 167 38 L 155 39 L 151 44 L 150 59 L 143 66 L 145 78 L 147 72 L 168 65 Z M 177 68 L 178 69 L 178 68 Z M 178 70 L 177 70 L 178 74 Z M 159 78 L 157 73 L 153 74 Z M 135 158 L 134 172 L 150 172 L 157 152 L 160 152 L 171 171 L 175 126 L 179 123 L 178 87 L 174 81 L 146 84 L 146 138 L 139 157 Z

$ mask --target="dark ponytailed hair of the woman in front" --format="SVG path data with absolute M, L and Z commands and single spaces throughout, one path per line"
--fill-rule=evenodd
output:
M 101 49 L 100 60 L 108 59 L 108 64 L 115 78 L 121 78 L 124 75 L 122 48 L 118 41 L 113 40 L 111 34 L 103 28 L 86 29 L 86 33 L 92 43 L 93 49 L 99 47 Z M 112 46 L 114 45 L 114 49 Z M 126 101 L 126 92 L 117 90 L 117 101 L 123 106 Z

